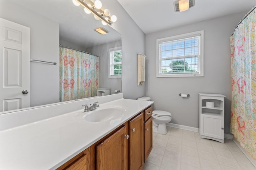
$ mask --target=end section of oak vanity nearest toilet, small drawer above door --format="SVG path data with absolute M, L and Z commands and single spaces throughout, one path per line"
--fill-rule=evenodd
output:
M 148 156 L 153 149 L 153 107 L 150 106 L 144 111 L 144 162 L 148 159 Z

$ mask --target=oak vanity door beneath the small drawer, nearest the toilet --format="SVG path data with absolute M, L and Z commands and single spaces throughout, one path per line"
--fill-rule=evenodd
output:
M 152 117 L 144 123 L 144 162 L 146 162 L 153 148 L 153 127 Z

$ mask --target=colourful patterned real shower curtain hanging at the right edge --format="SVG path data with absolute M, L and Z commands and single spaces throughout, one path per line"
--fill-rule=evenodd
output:
M 256 160 L 256 12 L 236 30 L 231 43 L 231 133 Z

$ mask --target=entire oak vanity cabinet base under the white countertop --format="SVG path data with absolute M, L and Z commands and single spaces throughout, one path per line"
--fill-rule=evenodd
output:
M 148 107 L 57 170 L 141 170 L 152 150 L 152 107 Z

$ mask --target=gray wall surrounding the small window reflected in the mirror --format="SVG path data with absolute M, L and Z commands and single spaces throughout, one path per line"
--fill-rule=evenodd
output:
M 110 88 L 110 94 L 116 94 L 114 90 L 121 90 L 121 78 L 108 78 L 108 49 L 121 46 L 120 39 L 120 41 L 94 46 L 86 50 L 100 56 L 99 88 Z

